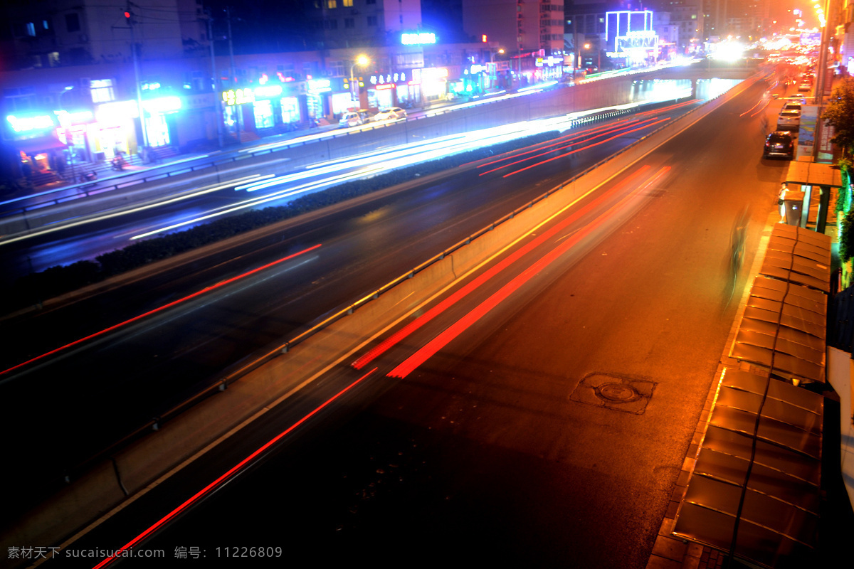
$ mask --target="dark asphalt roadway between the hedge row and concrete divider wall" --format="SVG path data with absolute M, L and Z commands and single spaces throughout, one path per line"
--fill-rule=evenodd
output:
M 4 322 L 10 340 L 3 359 L 14 365 L 179 299 L 177 291 L 189 287 L 187 280 L 198 282 L 198 290 L 320 245 L 6 374 L 0 381 L 0 425 L 19 434 L 3 446 L 23 460 L 3 477 L 15 485 L 60 480 L 85 458 L 211 385 L 229 365 L 280 344 L 308 322 L 404 274 L 644 134 L 636 125 L 625 130 L 625 136 L 590 151 L 516 176 L 465 171 L 284 224 L 245 245 L 242 253 L 230 252 L 232 259 L 216 263 L 216 270 L 177 266 L 172 277 L 132 283 L 113 295 L 75 304 L 61 316 Z M 51 320 L 55 316 L 58 321 Z M 37 408 L 19 412 L 17 402 L 36 400 Z M 10 499 L 28 502 L 26 492 L 13 494 Z

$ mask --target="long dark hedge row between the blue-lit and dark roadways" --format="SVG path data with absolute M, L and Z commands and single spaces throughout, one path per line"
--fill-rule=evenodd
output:
M 109 276 L 119 275 L 154 261 L 169 258 L 216 241 L 222 241 L 246 231 L 293 218 L 301 213 L 313 212 L 344 200 L 370 194 L 414 177 L 426 176 L 438 171 L 480 160 L 485 155 L 501 154 L 530 144 L 547 141 L 558 136 L 557 131 L 527 136 L 503 142 L 489 148 L 478 148 L 463 154 L 455 154 L 441 160 L 432 160 L 400 170 L 389 171 L 364 180 L 342 183 L 309 195 L 303 195 L 285 206 L 265 207 L 260 210 L 221 218 L 191 229 L 139 241 L 112 253 L 98 255 L 95 261 L 82 260 L 68 265 L 57 265 L 38 273 L 18 279 L 3 294 L 4 311 L 13 311 L 22 306 L 36 304 L 57 296 L 100 282 Z

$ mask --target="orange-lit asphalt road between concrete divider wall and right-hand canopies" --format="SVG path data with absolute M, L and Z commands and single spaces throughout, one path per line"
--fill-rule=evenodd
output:
M 252 547 L 271 565 L 645 566 L 733 322 L 730 229 L 750 206 L 738 298 L 787 165 L 760 159 L 759 118 L 742 114 L 762 90 L 532 231 L 517 247 L 541 242 L 364 369 L 332 370 L 69 547 L 129 543 L 340 393 L 137 547 L 168 566 Z

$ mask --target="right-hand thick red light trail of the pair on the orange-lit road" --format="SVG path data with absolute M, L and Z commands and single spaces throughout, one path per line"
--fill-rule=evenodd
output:
M 519 287 L 522 287 L 524 283 L 528 282 L 531 278 L 544 270 L 549 264 L 552 264 L 561 255 L 569 251 L 570 248 L 575 247 L 579 241 L 582 241 L 582 239 L 589 235 L 594 229 L 597 229 L 601 224 L 605 223 L 605 219 L 608 218 L 612 212 L 615 212 L 617 208 L 623 206 L 624 202 L 637 195 L 641 190 L 646 189 L 653 180 L 662 176 L 664 172 L 669 170 L 670 166 L 664 166 L 656 172 L 654 176 L 647 178 L 644 183 L 640 184 L 638 188 L 634 189 L 629 195 L 623 198 L 623 200 L 620 200 L 617 204 L 611 206 L 607 212 L 600 215 L 599 218 L 596 218 L 592 224 L 588 224 L 584 229 L 581 229 L 575 235 L 572 235 L 570 239 L 567 239 L 558 247 L 555 247 L 546 253 L 542 258 L 530 265 L 518 276 L 515 276 L 511 282 L 508 282 L 506 285 L 501 287 L 500 290 L 492 294 L 492 296 L 484 300 L 480 305 L 477 305 L 476 308 L 460 318 L 457 322 L 454 322 L 450 327 L 446 328 L 441 334 L 436 336 L 436 338 L 430 340 L 430 342 L 412 354 L 412 356 L 408 357 L 403 363 L 398 365 L 395 369 L 392 369 L 388 376 L 401 379 L 407 377 L 407 375 L 411 374 L 419 365 L 434 356 L 436 352 L 442 350 L 442 348 L 450 343 L 451 340 L 455 339 L 459 334 L 462 334 L 466 329 L 470 328 L 472 324 L 480 320 L 480 318 L 487 314 L 488 311 L 491 311 L 495 306 L 499 305 L 502 300 L 506 299 L 513 292 L 518 290 Z

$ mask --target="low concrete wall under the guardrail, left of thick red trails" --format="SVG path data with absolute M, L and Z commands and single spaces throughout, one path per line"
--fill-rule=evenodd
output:
M 273 404 L 336 361 L 348 363 L 344 356 L 371 334 L 406 316 L 413 307 L 451 284 L 465 271 L 529 232 L 541 220 L 570 204 L 578 196 L 633 165 L 654 148 L 745 90 L 749 84 L 743 82 L 727 95 L 707 103 L 676 124 L 646 136 L 628 151 L 563 184 L 547 199 L 519 212 L 469 245 L 430 264 L 413 278 L 404 280 L 377 300 L 360 307 L 352 316 L 332 323 L 308 340 L 295 345 L 286 355 L 254 369 L 225 392 L 196 404 L 162 426 L 157 433 L 116 453 L 113 457 L 115 467 L 113 462 L 105 461 L 48 502 L 18 520 L 7 520 L 0 535 L 0 547 L 61 543 L 73 531 L 123 502 L 125 490 L 131 495 L 142 490 L 162 473 L 176 467 L 214 439 L 247 420 L 258 409 Z M 118 477 L 116 472 L 119 473 Z

